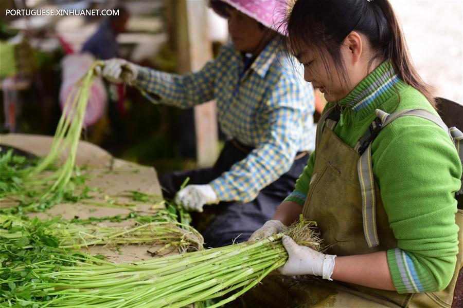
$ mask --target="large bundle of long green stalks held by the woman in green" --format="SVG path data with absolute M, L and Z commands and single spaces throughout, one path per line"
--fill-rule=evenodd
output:
M 283 234 L 290 235 L 299 244 L 320 248 L 310 222 L 302 220 Z M 21 290 L 28 290 L 28 297 L 10 297 L 0 304 L 183 307 L 226 295 L 213 305 L 217 307 L 250 290 L 286 262 L 288 255 L 281 244 L 283 234 L 256 243 L 126 264 L 101 260 L 88 264 L 80 259 L 68 262 L 70 265 L 34 263 L 28 265 L 28 269 L 36 277 L 35 281 L 15 286 L 19 294 Z M 63 256 L 59 258 L 67 260 Z

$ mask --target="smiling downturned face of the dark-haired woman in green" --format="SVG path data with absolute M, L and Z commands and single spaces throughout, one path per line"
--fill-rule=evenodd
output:
M 324 93 L 328 102 L 338 102 L 349 93 L 350 87 L 327 51 L 322 55 L 318 50 L 305 48 L 296 51 L 296 57 L 304 65 L 304 79 Z

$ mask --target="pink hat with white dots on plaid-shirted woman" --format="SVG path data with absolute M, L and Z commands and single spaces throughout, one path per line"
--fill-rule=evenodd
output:
M 215 9 L 212 2 L 226 3 L 243 14 L 254 18 L 267 28 L 278 31 L 280 34 L 286 35 L 286 29 L 280 27 L 280 23 L 285 17 L 287 0 L 209 0 L 209 6 L 212 7 L 217 14 L 226 17 L 225 12 Z

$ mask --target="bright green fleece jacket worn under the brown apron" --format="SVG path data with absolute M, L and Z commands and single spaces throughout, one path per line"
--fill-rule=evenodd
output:
M 375 119 L 377 108 L 388 113 L 423 108 L 437 114 L 419 91 L 398 78 L 388 61 L 339 105 L 345 109 L 334 132 L 351 147 Z M 304 205 L 315 159 L 316 150 L 285 201 Z M 453 276 L 458 252 L 454 196 L 460 188 L 461 163 L 455 145 L 431 121 L 402 117 L 382 129 L 373 142 L 372 164 L 398 243 L 387 251 L 397 292 L 443 290 Z

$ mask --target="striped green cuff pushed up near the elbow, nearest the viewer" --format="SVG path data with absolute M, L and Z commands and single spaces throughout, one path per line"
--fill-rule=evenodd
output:
M 432 279 L 423 279 L 418 272 L 416 262 L 400 248 L 387 251 L 387 262 L 390 275 L 398 293 L 417 293 L 432 290 L 435 282 Z M 429 277 L 431 278 L 431 277 Z

